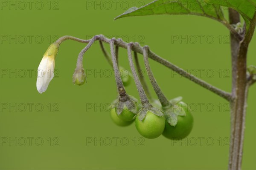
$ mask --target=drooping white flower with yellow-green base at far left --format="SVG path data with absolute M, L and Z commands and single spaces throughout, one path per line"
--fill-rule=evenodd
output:
M 55 57 L 58 52 L 58 44 L 52 44 L 45 52 L 38 66 L 38 78 L 36 88 L 39 93 L 45 92 L 50 81 L 54 77 Z

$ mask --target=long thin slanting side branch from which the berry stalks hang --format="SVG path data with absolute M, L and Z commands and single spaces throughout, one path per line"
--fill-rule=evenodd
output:
M 83 43 L 90 42 L 90 40 L 80 41 L 80 40 L 77 40 L 78 38 L 71 37 L 71 36 L 67 36 L 67 37 L 64 36 L 64 37 L 61 37 L 60 39 L 61 40 L 70 40 L 71 39 L 71 40 L 76 40 L 76 41 L 83 42 Z M 99 40 L 102 40 L 105 43 L 110 43 L 110 41 L 111 41 L 110 39 L 108 39 L 104 35 L 99 35 Z M 122 39 L 115 40 L 115 45 L 119 46 L 119 47 L 122 47 L 122 48 L 125 48 L 125 49 L 128 48 L 127 43 L 122 41 Z M 137 53 L 143 54 L 143 49 L 142 49 L 142 47 L 138 43 L 135 44 L 135 46 L 133 46 L 131 50 L 133 50 L 133 51 L 135 51 Z M 198 84 L 198 85 L 200 85 L 200 86 L 202 86 L 202 87 L 204 87 L 204 88 L 214 92 L 215 94 L 225 98 L 227 101 L 231 101 L 231 94 L 230 93 L 225 92 L 225 91 L 223 91 L 221 89 L 218 89 L 217 87 L 212 86 L 211 84 L 201 80 L 200 78 L 197 78 L 194 75 L 189 74 L 185 70 L 180 69 L 179 67 L 177 67 L 174 64 L 170 63 L 169 61 L 166 61 L 165 59 L 159 57 L 158 55 L 154 54 L 153 52 L 149 51 L 148 52 L 148 57 L 151 58 L 152 60 L 157 61 L 158 63 L 168 67 L 169 69 L 172 69 L 173 71 L 177 72 L 179 75 L 181 75 L 181 76 L 183 76 L 185 78 L 188 78 L 189 80 L 195 82 L 196 84 Z

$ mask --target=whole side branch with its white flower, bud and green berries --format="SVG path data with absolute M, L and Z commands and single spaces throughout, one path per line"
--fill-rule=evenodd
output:
M 175 138 L 177 137 L 177 134 L 181 134 L 180 138 L 184 138 L 191 131 L 192 124 L 193 124 L 192 115 L 190 114 L 185 104 L 181 102 L 182 98 L 178 97 L 169 101 L 166 98 L 166 96 L 163 94 L 162 90 L 157 84 L 156 79 L 154 78 L 153 72 L 151 71 L 148 58 L 151 58 L 152 60 L 157 61 L 158 63 L 174 70 L 175 72 L 182 75 L 183 77 L 188 78 L 189 80 L 195 82 L 200 86 L 203 86 L 206 89 L 209 89 L 210 91 L 225 98 L 228 101 L 233 100 L 232 95 L 229 92 L 225 92 L 221 89 L 218 89 L 217 87 L 212 86 L 211 84 L 208 84 L 207 82 L 199 78 L 196 78 L 193 75 L 190 75 L 188 72 L 186 72 L 183 69 L 180 69 L 179 67 L 170 63 L 169 61 L 166 61 L 165 59 L 160 58 L 158 55 L 151 52 L 148 46 L 142 47 L 140 46 L 139 43 L 125 43 L 122 39 L 115 39 L 115 38 L 108 39 L 103 35 L 95 35 L 90 40 L 82 40 L 72 36 L 64 36 L 59 38 L 55 43 L 53 43 L 47 49 L 47 52 L 45 53 L 44 58 L 42 59 L 38 67 L 38 72 L 43 70 L 44 74 L 46 74 L 46 72 L 49 72 L 50 69 L 54 69 L 55 56 L 57 55 L 58 48 L 60 44 L 65 40 L 75 40 L 81 43 L 88 43 L 87 46 L 85 46 L 84 49 L 82 49 L 81 52 L 79 53 L 77 63 L 76 63 L 76 69 L 73 74 L 73 83 L 77 85 L 82 85 L 84 84 L 84 82 L 86 82 L 86 75 L 83 68 L 84 53 L 90 48 L 90 46 L 93 45 L 93 43 L 96 40 L 99 40 L 100 48 L 102 49 L 102 52 L 105 58 L 107 59 L 108 63 L 110 63 L 111 66 L 113 66 L 117 92 L 119 94 L 118 99 L 116 100 L 116 106 L 115 106 L 115 112 L 117 117 L 114 119 L 119 121 L 118 124 L 120 124 L 120 121 L 127 122 L 125 123 L 125 126 L 126 126 L 128 124 L 131 124 L 128 122 L 134 121 L 136 117 L 135 124 L 136 124 L 137 130 L 145 138 L 156 138 L 162 133 L 167 138 L 172 138 L 172 134 L 175 136 Z M 108 54 L 108 52 L 105 50 L 105 47 L 103 46 L 103 42 L 110 44 L 111 57 Z M 126 93 L 122 76 L 120 75 L 121 66 L 118 66 L 119 47 L 127 49 L 127 52 L 128 52 L 128 60 L 131 67 L 132 75 L 140 95 L 140 101 L 142 103 L 142 108 L 139 111 L 137 109 L 137 100 Z M 134 51 L 134 59 L 135 59 L 135 63 L 136 63 L 136 67 L 139 75 L 141 74 L 141 70 L 140 70 L 140 64 L 138 61 L 137 53 L 143 54 L 143 60 L 145 63 L 145 68 L 146 68 L 148 77 L 150 79 L 151 85 L 153 86 L 154 91 L 156 92 L 162 107 L 157 106 L 157 104 L 154 103 L 154 100 L 151 98 L 147 84 L 145 83 L 145 80 L 143 79 L 143 77 L 140 77 L 140 78 L 138 77 L 135 70 L 134 63 L 133 63 L 133 59 L 132 59 L 132 51 Z M 251 70 L 254 70 L 254 68 Z M 253 74 L 254 74 L 253 71 L 251 72 L 249 71 L 248 73 L 248 81 L 250 81 L 250 85 L 255 82 L 255 78 L 253 77 L 255 75 Z M 49 82 L 52 80 L 52 78 L 53 78 L 53 70 L 52 70 L 51 77 L 47 77 L 47 76 L 38 77 L 38 80 L 37 80 L 38 92 L 40 93 L 44 92 L 47 89 L 47 86 L 49 85 Z M 149 97 L 149 99 L 147 96 Z M 161 111 L 159 108 L 161 108 L 163 111 Z M 181 116 L 179 119 L 181 121 L 180 124 L 184 124 L 183 122 L 186 122 L 186 125 L 185 125 L 186 128 L 180 127 L 181 125 L 177 126 L 179 116 Z M 166 123 L 164 120 L 166 120 Z M 176 128 L 173 129 L 172 127 L 176 127 Z M 181 132 L 178 127 L 182 128 L 183 131 Z M 186 129 L 186 131 L 184 131 L 184 129 Z M 176 138 L 176 139 L 180 139 L 180 138 Z

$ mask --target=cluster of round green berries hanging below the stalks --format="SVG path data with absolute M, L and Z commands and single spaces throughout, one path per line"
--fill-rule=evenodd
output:
M 127 80 L 128 79 L 126 79 L 126 81 Z M 124 84 L 127 86 L 129 83 L 124 82 Z M 118 99 L 116 101 L 118 101 Z M 142 109 L 141 104 L 138 104 L 136 101 L 135 104 L 137 113 L 140 113 Z M 151 104 L 153 107 L 160 109 L 163 112 L 163 116 L 158 116 L 154 114 L 154 112 L 147 111 L 143 120 L 140 121 L 139 114 L 130 111 L 126 105 L 124 105 L 122 112 L 118 114 L 116 104 L 113 104 L 113 108 L 110 112 L 111 119 L 120 127 L 129 126 L 135 121 L 137 131 L 145 138 L 157 138 L 162 134 L 166 138 L 180 140 L 189 135 L 193 127 L 193 117 L 187 104 L 183 101 L 177 101 L 176 107 L 172 108 L 163 108 L 158 100 L 153 100 Z M 178 114 L 175 112 L 175 109 L 181 109 L 184 114 Z M 177 115 L 177 124 L 169 123 L 169 114 L 167 114 L 169 111 Z

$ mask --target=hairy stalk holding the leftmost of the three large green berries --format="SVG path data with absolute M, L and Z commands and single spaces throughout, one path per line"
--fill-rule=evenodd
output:
M 118 69 L 118 65 L 117 65 L 117 62 L 116 62 L 116 52 L 114 50 L 114 41 L 115 41 L 114 39 L 111 39 L 110 49 L 111 49 L 113 69 L 114 69 L 115 79 L 116 79 L 116 87 L 117 87 L 117 91 L 118 91 L 119 96 L 120 96 L 120 100 L 121 101 L 127 101 L 128 100 L 128 95 L 125 92 L 125 87 L 122 83 L 122 79 L 121 79 L 119 69 Z

